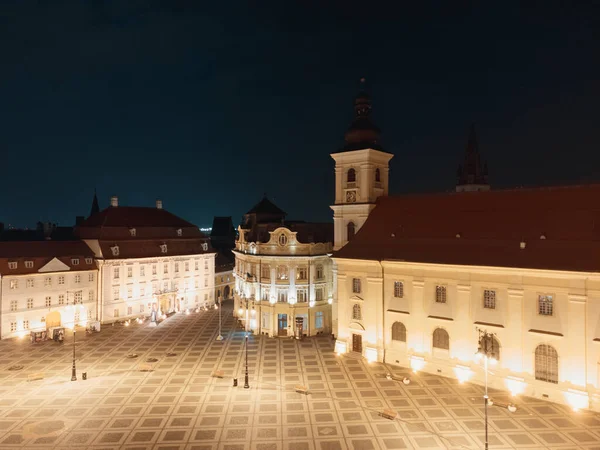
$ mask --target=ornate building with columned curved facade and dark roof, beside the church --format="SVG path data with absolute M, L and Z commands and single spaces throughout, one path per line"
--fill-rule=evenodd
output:
M 268 336 L 332 332 L 333 228 L 286 221 L 266 196 L 244 215 L 235 254 L 235 310 Z

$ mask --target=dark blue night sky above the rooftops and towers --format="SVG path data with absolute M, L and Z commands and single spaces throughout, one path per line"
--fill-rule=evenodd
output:
M 331 220 L 361 77 L 392 193 L 452 189 L 472 122 L 495 187 L 600 180 L 598 2 L 383 4 L 1 2 L 0 221 L 70 225 L 94 187 Z

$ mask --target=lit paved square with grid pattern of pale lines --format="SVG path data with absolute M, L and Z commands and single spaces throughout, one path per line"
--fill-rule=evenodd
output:
M 218 323 L 211 310 L 158 327 L 79 332 L 76 382 L 70 334 L 62 345 L 0 342 L 0 448 L 483 448 L 481 387 L 425 374 L 410 385 L 388 380 L 381 364 L 336 357 L 329 337 L 251 337 L 244 389 L 244 336 L 231 305 L 223 308 L 223 341 L 216 340 Z M 298 385 L 308 394 L 296 392 Z M 492 397 L 508 403 L 507 394 Z M 600 449 L 600 415 L 528 398 L 517 403 L 512 414 L 490 408 L 491 449 Z M 380 415 L 386 409 L 398 417 Z

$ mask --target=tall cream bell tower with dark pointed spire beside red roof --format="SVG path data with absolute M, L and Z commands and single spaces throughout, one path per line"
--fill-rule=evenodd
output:
M 352 240 L 375 208 L 378 197 L 388 195 L 389 161 L 379 142 L 381 134 L 371 121 L 371 99 L 361 90 L 354 100 L 354 120 L 344 136 L 345 145 L 332 153 L 335 160 L 334 244 L 339 250 Z

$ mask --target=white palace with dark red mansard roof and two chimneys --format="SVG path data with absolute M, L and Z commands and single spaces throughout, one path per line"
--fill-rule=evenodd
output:
M 214 304 L 210 240 L 160 200 L 155 208 L 131 207 L 112 197 L 77 234 L 98 262 L 102 322 Z

